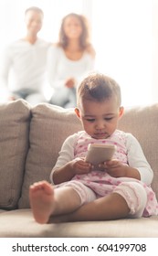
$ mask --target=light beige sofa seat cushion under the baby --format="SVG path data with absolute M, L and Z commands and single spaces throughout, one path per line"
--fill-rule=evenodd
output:
M 41 225 L 33 218 L 31 209 L 16 209 L 0 214 L 0 227 L 0 238 L 158 238 L 158 216 Z

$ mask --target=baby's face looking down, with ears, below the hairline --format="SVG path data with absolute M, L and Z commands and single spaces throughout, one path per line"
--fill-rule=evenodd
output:
M 95 139 L 106 139 L 117 129 L 123 108 L 114 97 L 105 101 L 82 101 L 79 103 L 80 121 L 84 130 Z

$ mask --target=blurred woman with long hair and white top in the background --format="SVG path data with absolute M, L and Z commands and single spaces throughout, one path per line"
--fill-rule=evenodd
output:
M 79 80 L 94 69 L 95 50 L 90 44 L 90 29 L 85 16 L 68 14 L 62 19 L 59 39 L 48 49 L 47 72 L 53 95 L 50 103 L 76 106 Z

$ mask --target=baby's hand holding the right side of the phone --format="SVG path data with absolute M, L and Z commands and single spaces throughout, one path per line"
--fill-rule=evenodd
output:
M 100 167 L 113 177 L 127 176 L 128 166 L 122 165 L 120 161 L 113 159 L 101 164 Z

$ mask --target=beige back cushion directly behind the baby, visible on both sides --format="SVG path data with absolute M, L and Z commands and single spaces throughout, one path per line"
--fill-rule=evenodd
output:
M 28 208 L 28 187 L 38 180 L 49 181 L 58 152 L 69 134 L 78 132 L 81 124 L 73 110 L 62 109 L 49 104 L 32 108 L 29 141 L 26 157 L 26 172 L 19 208 Z M 158 104 L 125 110 L 119 128 L 132 133 L 142 144 L 142 150 L 152 165 L 153 189 L 158 197 Z

